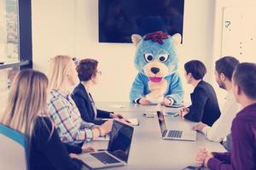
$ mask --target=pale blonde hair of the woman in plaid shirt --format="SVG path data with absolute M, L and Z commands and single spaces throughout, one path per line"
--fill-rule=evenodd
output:
M 49 78 L 49 90 L 58 90 L 67 75 L 68 68 L 73 62 L 68 55 L 57 55 L 50 60 L 47 76 Z

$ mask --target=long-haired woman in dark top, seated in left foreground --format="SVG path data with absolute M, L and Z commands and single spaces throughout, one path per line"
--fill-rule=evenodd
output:
M 46 111 L 48 79 L 39 71 L 25 70 L 15 77 L 0 123 L 28 137 L 29 169 L 80 169 L 61 143 Z M 73 156 L 74 157 L 74 156 Z

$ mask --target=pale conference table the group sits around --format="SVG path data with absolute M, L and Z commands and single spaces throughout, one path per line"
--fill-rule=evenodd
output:
M 195 155 L 200 148 L 209 151 L 225 151 L 224 147 L 216 142 L 211 142 L 202 133 L 196 134 L 196 141 L 163 140 L 160 133 L 158 117 L 147 118 L 146 112 L 178 111 L 160 105 L 137 105 L 130 103 L 98 102 L 97 109 L 115 111 L 127 118 L 137 117 L 139 126 L 134 126 L 131 142 L 130 156 L 125 167 L 111 167 L 108 169 L 169 169 L 181 170 L 184 167 L 195 166 Z M 168 129 L 191 129 L 195 122 L 189 122 L 180 116 L 165 116 Z M 84 146 L 94 147 L 96 150 L 107 149 L 108 141 L 92 141 Z M 86 167 L 84 167 L 86 169 Z

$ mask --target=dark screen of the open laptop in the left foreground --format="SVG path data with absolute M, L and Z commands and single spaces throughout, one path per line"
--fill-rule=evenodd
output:
M 127 162 L 131 148 L 133 127 L 122 122 L 113 121 L 108 143 L 108 152 L 120 160 Z

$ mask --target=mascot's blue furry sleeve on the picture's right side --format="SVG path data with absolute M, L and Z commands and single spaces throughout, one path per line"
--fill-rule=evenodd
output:
M 169 86 L 169 91 L 165 98 L 172 98 L 175 104 L 181 104 L 183 102 L 184 92 L 182 82 L 177 73 L 174 73 L 172 76 Z

